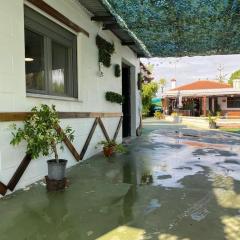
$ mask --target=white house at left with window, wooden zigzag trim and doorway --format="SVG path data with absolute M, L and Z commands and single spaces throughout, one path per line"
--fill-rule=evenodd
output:
M 115 46 L 109 68 L 99 64 L 97 35 Z M 22 162 L 16 173 L 26 148 L 10 145 L 9 125 L 21 125 L 24 114 L 35 105 L 56 105 L 63 117 L 61 126 L 75 130 L 73 146 L 78 153 L 99 117 L 113 138 L 123 113 L 124 131 L 119 131 L 117 140 L 121 141 L 122 133 L 135 136 L 140 109 L 139 57 L 147 52 L 100 0 L 2 0 L 0 45 L 1 194 L 25 187 L 47 173 L 47 158 Z M 121 67 L 121 77 L 114 75 L 116 64 Z M 107 102 L 106 91 L 124 95 L 125 104 Z M 83 159 L 99 151 L 95 146 L 104 139 L 99 121 Z M 61 157 L 68 159 L 68 167 L 77 163 L 68 148 Z M 21 172 L 21 168 L 26 170 Z

